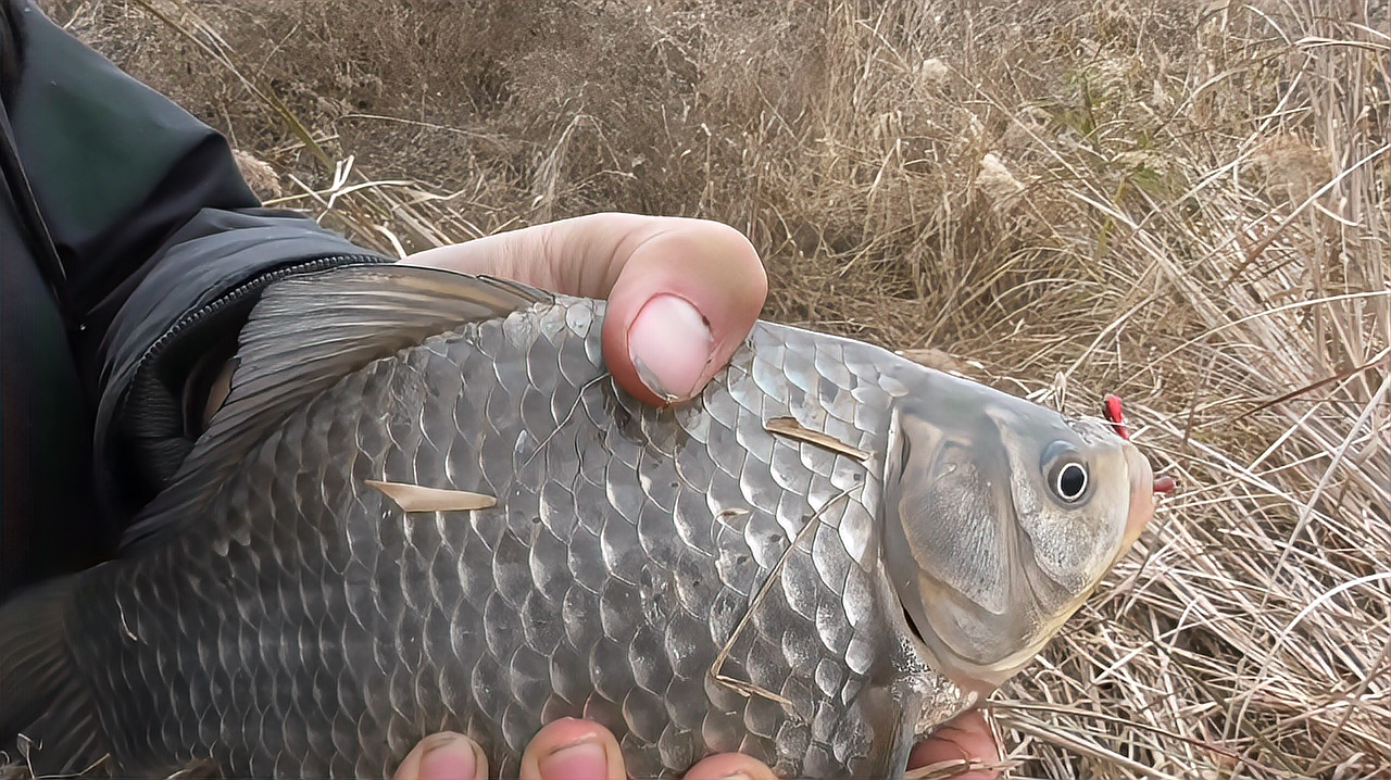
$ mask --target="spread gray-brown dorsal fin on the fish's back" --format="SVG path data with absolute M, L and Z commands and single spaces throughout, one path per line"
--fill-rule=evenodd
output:
M 131 551 L 198 514 L 218 484 L 294 409 L 363 366 L 549 293 L 419 266 L 352 266 L 273 284 L 242 328 L 231 392 L 178 474 L 122 539 Z

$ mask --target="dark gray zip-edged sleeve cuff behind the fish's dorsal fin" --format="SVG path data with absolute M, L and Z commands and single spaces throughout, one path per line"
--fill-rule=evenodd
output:
M 174 477 L 199 432 L 189 382 L 231 357 L 266 285 L 388 261 L 305 217 L 259 209 L 206 209 L 171 236 L 102 342 L 95 459 L 111 516 L 128 521 Z

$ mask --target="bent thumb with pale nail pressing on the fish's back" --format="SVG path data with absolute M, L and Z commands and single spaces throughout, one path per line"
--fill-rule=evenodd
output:
M 729 225 L 591 214 L 412 254 L 406 261 L 491 274 L 565 295 L 606 298 L 604 360 L 634 398 L 693 398 L 748 335 L 768 277 Z

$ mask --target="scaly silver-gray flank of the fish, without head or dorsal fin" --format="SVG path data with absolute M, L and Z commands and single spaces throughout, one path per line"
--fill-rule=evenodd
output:
M 604 373 L 601 314 L 562 299 L 344 377 L 200 527 L 90 577 L 78 628 L 107 640 L 78 665 L 113 670 L 93 687 L 120 770 L 381 776 L 453 729 L 516 774 L 542 723 L 583 716 L 634 776 L 736 749 L 865 774 L 904 716 L 861 694 L 912 677 L 951 715 L 879 570 L 893 359 L 759 324 L 700 403 L 659 412 Z M 782 416 L 881 455 L 765 431 Z M 499 503 L 408 516 L 364 480 Z M 730 638 L 744 690 L 709 673 Z

